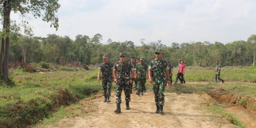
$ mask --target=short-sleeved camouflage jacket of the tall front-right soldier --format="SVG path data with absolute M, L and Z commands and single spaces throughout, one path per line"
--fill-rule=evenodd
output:
M 148 69 L 152 70 L 153 79 L 165 78 L 165 71 L 169 70 L 166 60 L 151 60 Z

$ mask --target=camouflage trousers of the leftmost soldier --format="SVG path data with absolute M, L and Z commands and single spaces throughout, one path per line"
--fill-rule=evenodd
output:
M 112 76 L 111 77 L 104 77 L 102 79 L 102 86 L 103 86 L 103 94 L 104 96 L 111 96 L 111 87 L 112 87 Z

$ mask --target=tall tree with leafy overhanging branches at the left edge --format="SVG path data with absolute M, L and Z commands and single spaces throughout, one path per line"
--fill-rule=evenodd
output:
M 9 80 L 9 47 L 10 47 L 10 14 L 11 11 L 19 13 L 25 17 L 22 21 L 25 30 L 31 31 L 28 27 L 27 14 L 31 13 L 35 18 L 41 17 L 44 22 L 50 22 L 50 27 L 54 26 L 58 30 L 58 17 L 55 15 L 60 4 L 58 0 L 1 0 L 0 13 L 3 29 L 1 31 L 1 49 L 0 49 L 0 75 L 4 81 Z M 44 12 L 44 14 L 42 14 Z

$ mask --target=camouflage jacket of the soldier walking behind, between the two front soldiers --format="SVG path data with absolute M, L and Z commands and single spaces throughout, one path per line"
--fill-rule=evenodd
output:
M 137 63 L 134 70 L 137 70 L 137 79 L 146 79 L 146 73 L 148 71 L 148 66 L 146 63 Z

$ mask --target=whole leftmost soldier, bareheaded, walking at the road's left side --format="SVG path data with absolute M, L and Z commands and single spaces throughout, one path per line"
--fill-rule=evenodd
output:
M 107 55 L 103 56 L 103 62 L 100 64 L 98 79 L 100 81 L 100 73 L 102 72 L 102 86 L 104 91 L 104 102 L 111 102 L 109 97 L 111 95 L 111 86 L 112 86 L 112 75 L 113 75 L 113 64 L 108 62 L 109 58 Z

